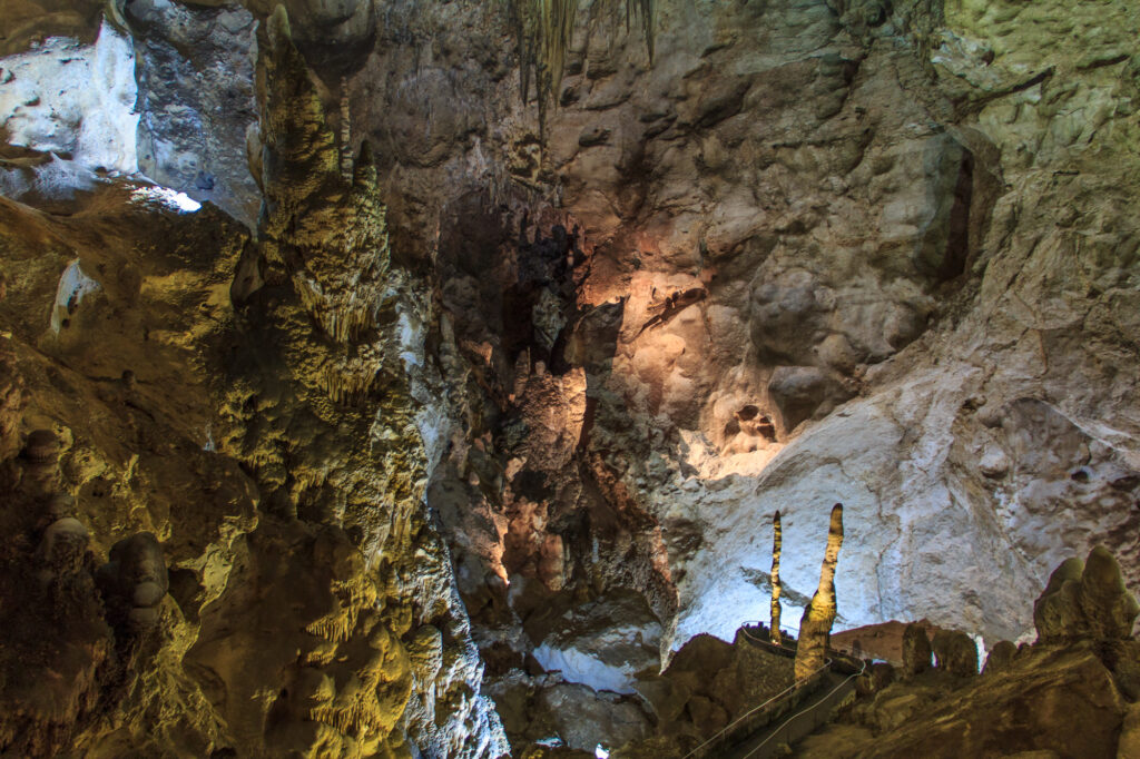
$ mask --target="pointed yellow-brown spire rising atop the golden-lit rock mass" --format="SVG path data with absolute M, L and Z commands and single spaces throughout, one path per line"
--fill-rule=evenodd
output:
M 339 343 L 376 326 L 388 289 L 386 210 L 367 142 L 352 160 L 348 88 L 340 139 L 278 8 L 261 56 L 263 91 L 261 235 L 323 332 Z

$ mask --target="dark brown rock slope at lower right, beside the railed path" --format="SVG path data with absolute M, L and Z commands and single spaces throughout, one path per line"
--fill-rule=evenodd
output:
M 1112 555 L 1096 561 L 1110 568 L 1106 558 Z M 1081 571 L 1074 573 L 1073 566 L 1062 563 L 1054 579 L 1075 574 L 1078 581 Z M 1050 587 L 1043 598 L 1057 597 L 1057 585 L 1051 581 Z M 1140 695 L 1134 639 L 1051 638 L 1020 650 L 1005 640 L 991 651 L 984 677 L 959 677 L 976 672 L 974 651 L 969 636 L 939 630 L 936 670 L 862 688 L 862 697 L 839 723 L 796 745 L 796 756 L 1133 756 L 1134 700 Z M 975 671 L 967 671 L 967 664 Z

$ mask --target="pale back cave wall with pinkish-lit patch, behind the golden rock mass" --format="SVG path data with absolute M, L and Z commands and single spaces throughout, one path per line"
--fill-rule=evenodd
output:
M 40 5 L 18 2 L 7 14 L 6 52 L 26 52 L 32 38 L 56 31 L 81 44 L 99 39 L 90 8 Z M 487 524 L 507 516 L 512 542 L 543 546 L 535 553 L 545 566 L 573 568 L 586 556 L 593 564 L 598 537 L 598 574 L 630 568 L 620 582 L 651 594 L 667 615 L 675 609 L 678 637 L 714 628 L 727 636 L 763 613 L 746 599 L 751 572 L 767 570 L 734 525 L 850 493 L 849 519 L 886 515 L 848 546 L 852 566 L 866 570 L 852 577 L 873 572 L 885 583 L 871 594 L 840 578 L 852 625 L 910 619 L 921 607 L 938 623 L 1013 638 L 1029 627 L 1028 617 L 1011 617 L 1015 596 L 1064 553 L 1098 541 L 1119 547 L 1134 415 L 1116 399 L 1130 397 L 1130 373 L 1090 367 L 1129 360 L 1113 348 L 1127 332 L 1127 259 L 1082 259 L 1091 262 L 1091 294 L 1080 294 L 1080 268 L 1065 261 L 1076 240 L 1126 251 L 1135 236 L 1119 211 L 1132 160 L 1117 107 L 1130 97 L 1117 81 L 1126 70 L 1117 30 L 1126 24 L 1074 22 L 1076 35 L 1051 44 L 1042 31 L 1051 26 L 1017 21 L 1027 10 L 991 24 L 977 8 L 943 13 L 921 2 L 665 1 L 628 26 L 622 3 L 589 13 L 563 3 L 553 27 L 520 15 L 534 10 L 527 3 L 401 2 L 382 13 L 370 3 L 287 5 L 325 112 L 355 122 L 333 123 L 334 133 L 383 146 L 391 234 L 439 286 L 440 344 L 449 342 L 445 324 L 461 333 L 445 372 L 449 400 L 433 413 L 477 422 L 440 435 L 455 439 L 455 460 L 437 490 L 470 488 L 464 497 L 475 505 L 464 513 L 482 525 L 461 558 L 472 568 L 464 593 L 478 593 L 494 571 L 505 538 Z M 139 74 L 123 80 L 139 88 L 127 98 L 140 104 L 138 162 L 247 219 L 260 199 L 241 166 L 254 115 L 249 52 L 255 21 L 270 11 L 252 1 L 132 2 L 116 18 L 132 35 Z M 1049 2 L 1031 15 L 1085 11 Z M 43 28 L 32 30 L 33 19 Z M 438 41 L 430 62 L 418 57 L 427 39 Z M 67 66 L 79 52 L 64 56 L 75 58 Z M 556 88 L 555 58 L 564 64 Z M 542 119 L 536 100 L 519 97 L 524 79 L 535 92 L 537 74 L 523 70 L 539 60 L 548 60 L 551 88 Z M 738 71 L 740 60 L 752 63 Z M 192 70 L 201 76 L 186 76 Z M 190 79 L 201 82 L 193 91 L 177 84 Z M 30 80 L 9 83 L 17 81 Z M 36 90 L 38 106 L 23 97 L 18 109 L 46 113 L 50 92 Z M 1052 95 L 1072 107 L 1040 105 Z M 1074 115 L 1092 113 L 1110 115 L 1104 123 Z M 249 147 L 260 177 L 255 132 Z M 11 176 L 40 188 L 51 177 L 70 182 L 68 163 L 57 156 Z M 512 243 L 523 219 L 532 238 L 572 240 L 573 266 L 556 286 L 518 266 Z M 449 250 L 456 239 L 471 243 L 464 266 L 478 261 L 473 271 L 453 266 L 462 258 Z M 1011 272 L 1027 266 L 1041 277 L 1015 281 Z M 504 304 L 521 315 L 510 325 Z M 1070 340 L 1077 333 L 1088 338 Z M 557 472 L 551 519 L 529 519 L 542 499 L 502 500 L 505 482 L 494 476 L 466 482 L 467 470 L 482 466 L 477 459 L 503 472 L 530 460 L 499 432 L 500 418 L 531 405 L 510 400 L 523 346 L 544 353 L 557 375 L 563 358 L 580 369 L 592 399 L 581 451 L 571 446 L 571 465 Z M 561 358 L 548 360 L 552 352 Z M 928 457 L 911 470 L 887 465 L 912 451 Z M 521 485 L 540 475 L 544 488 L 552 474 L 513 473 Z M 722 498 L 733 508 L 702 508 Z M 1081 508 L 1067 511 L 1073 503 Z M 1017 504 L 1017 513 L 994 504 Z M 790 531 L 819 522 L 785 508 L 797 525 Z M 613 509 L 620 528 L 600 519 Z M 573 515 L 591 512 L 575 537 Z M 944 519 L 927 519 L 935 512 Z M 1064 548 L 1036 539 L 1053 517 L 1067 524 Z M 477 533 L 466 522 L 443 527 L 456 544 Z M 687 539 L 693 530 L 707 540 Z M 993 569 L 963 577 L 915 558 L 922 545 L 958 534 L 979 536 L 964 566 Z M 627 538 L 634 552 L 621 562 Z M 1131 560 L 1122 561 L 1131 577 Z M 725 562 L 735 569 L 702 570 Z M 789 555 L 782 569 L 789 591 L 815 582 L 811 561 Z M 970 591 L 990 571 L 1009 581 L 975 604 Z M 945 607 L 912 604 L 914 588 Z

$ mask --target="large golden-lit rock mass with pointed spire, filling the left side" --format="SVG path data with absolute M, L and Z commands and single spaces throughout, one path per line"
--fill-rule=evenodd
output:
M 260 50 L 260 239 L 125 178 L 0 198 L 0 752 L 505 750 L 423 505 L 426 302 L 284 18 Z

